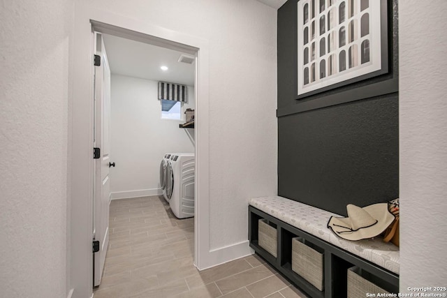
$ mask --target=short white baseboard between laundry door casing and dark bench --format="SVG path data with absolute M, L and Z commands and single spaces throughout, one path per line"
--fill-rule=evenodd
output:
M 249 241 L 242 241 L 230 246 L 212 249 L 206 255 L 200 256 L 199 270 L 221 265 L 232 260 L 236 260 L 247 255 L 253 255 L 254 250 L 249 246 Z

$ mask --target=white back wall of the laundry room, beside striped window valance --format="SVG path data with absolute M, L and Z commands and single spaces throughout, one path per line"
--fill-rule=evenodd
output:
M 184 109 L 195 106 L 189 86 Z M 194 130 L 179 128 L 184 120 L 161 119 L 158 82 L 151 80 L 112 75 L 110 110 L 112 199 L 161 194 L 161 159 L 167 152 L 194 153 Z

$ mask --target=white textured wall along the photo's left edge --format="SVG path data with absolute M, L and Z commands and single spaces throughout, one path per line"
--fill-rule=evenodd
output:
M 0 296 L 66 297 L 73 1 L 0 8 Z

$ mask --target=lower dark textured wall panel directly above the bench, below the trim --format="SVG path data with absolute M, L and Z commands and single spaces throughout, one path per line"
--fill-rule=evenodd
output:
M 397 96 L 278 120 L 279 195 L 346 213 L 398 198 Z

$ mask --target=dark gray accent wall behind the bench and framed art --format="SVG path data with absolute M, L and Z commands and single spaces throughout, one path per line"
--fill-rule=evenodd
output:
M 388 3 L 390 72 L 296 100 L 297 0 L 278 10 L 278 194 L 346 215 L 399 195 L 399 96 L 378 89 L 362 100 L 300 112 L 299 103 L 398 79 L 397 1 Z M 351 91 L 347 92 L 346 91 Z

